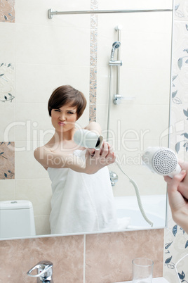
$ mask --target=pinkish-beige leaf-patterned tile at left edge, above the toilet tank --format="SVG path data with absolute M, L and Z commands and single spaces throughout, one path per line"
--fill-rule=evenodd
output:
M 15 143 L 0 142 L 0 179 L 15 178 Z

